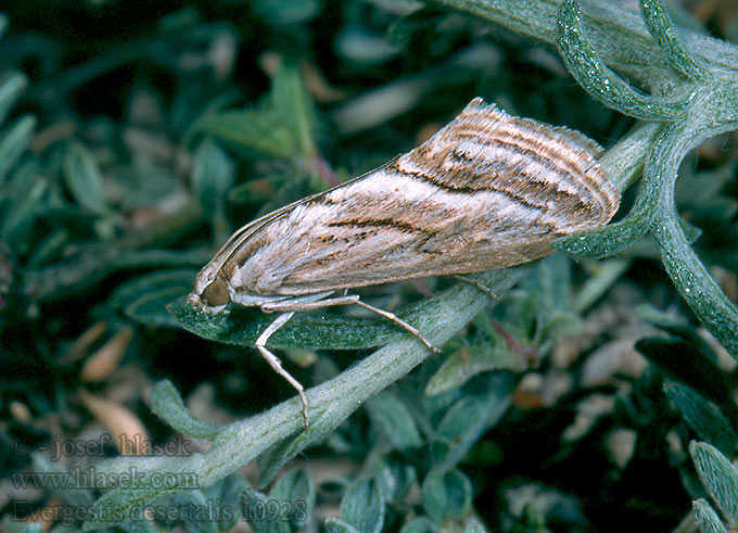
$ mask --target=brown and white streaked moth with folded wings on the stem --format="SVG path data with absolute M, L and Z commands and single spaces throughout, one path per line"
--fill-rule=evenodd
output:
M 603 226 L 620 191 L 584 135 L 511 116 L 480 98 L 415 150 L 329 191 L 239 229 L 194 281 L 190 303 L 217 313 L 233 302 L 281 313 L 266 348 L 295 312 L 358 304 L 433 348 L 409 323 L 358 295 L 334 291 L 428 276 L 480 272 L 537 259 L 562 236 Z

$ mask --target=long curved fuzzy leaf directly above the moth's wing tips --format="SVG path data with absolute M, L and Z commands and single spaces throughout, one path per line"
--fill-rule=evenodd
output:
M 608 107 L 644 120 L 669 120 L 687 112 L 689 92 L 672 98 L 645 94 L 605 65 L 584 35 L 576 0 L 564 0 L 559 8 L 556 42 L 572 76 Z

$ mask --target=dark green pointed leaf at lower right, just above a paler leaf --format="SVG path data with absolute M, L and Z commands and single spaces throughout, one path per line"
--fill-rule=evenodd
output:
M 679 383 L 664 382 L 664 392 L 700 439 L 727 456 L 734 455 L 738 435 L 716 405 Z

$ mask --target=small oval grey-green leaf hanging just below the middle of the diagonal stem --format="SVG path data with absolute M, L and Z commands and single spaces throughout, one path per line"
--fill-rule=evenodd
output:
M 407 449 L 423 443 L 410 410 L 394 394 L 383 392 L 374 396 L 367 408 L 373 424 L 392 447 Z

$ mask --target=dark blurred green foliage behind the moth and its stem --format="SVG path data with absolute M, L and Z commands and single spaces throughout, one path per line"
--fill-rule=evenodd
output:
M 670 8 L 696 31 L 738 37 L 733 1 Z M 145 452 L 120 449 L 120 435 L 181 443 L 148 404 L 160 380 L 216 423 L 293 396 L 256 352 L 198 338 L 165 307 L 241 225 L 411 149 L 476 96 L 606 148 L 634 124 L 587 96 L 550 46 L 433 3 L 30 0 L 2 9 L 0 511 L 9 531 L 26 526 L 13 517 L 75 530 L 85 517 L 33 512 L 99 496 L 23 487 L 12 474 Z M 737 161 L 735 135 L 714 138 L 687 158 L 677 186 L 680 214 L 702 230 L 696 250 L 733 302 Z M 625 208 L 633 195 L 624 193 Z M 394 284 L 368 297 L 396 309 L 447 284 Z M 311 385 L 367 347 L 280 356 Z M 698 439 L 735 457 L 735 361 L 683 303 L 650 238 L 601 262 L 557 254 L 276 483 L 256 486 L 259 466 L 250 464 L 167 500 L 217 499 L 245 515 L 270 498 L 303 502 L 304 517 L 293 506 L 273 523 L 157 516 L 116 528 L 697 531 L 695 517 L 710 512 L 704 500 L 690 511 L 698 498 L 717 499 L 723 521 L 738 519 L 724 493 L 705 490 L 688 449 Z M 51 458 L 54 442 L 103 434 L 116 439 L 100 454 Z

